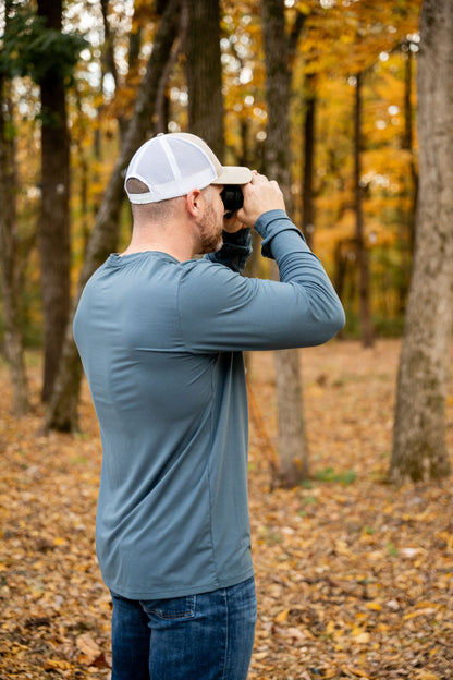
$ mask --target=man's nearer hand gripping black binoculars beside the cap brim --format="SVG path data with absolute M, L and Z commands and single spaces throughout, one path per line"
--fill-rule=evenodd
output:
M 237 210 L 237 219 L 246 227 L 253 227 L 268 210 L 285 210 L 284 198 L 274 180 L 269 181 L 264 174 L 254 171 L 248 184 L 242 187 L 244 205 Z

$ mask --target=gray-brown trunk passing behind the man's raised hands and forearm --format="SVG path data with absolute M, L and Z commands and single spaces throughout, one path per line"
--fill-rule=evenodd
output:
M 292 212 L 290 154 L 290 73 L 284 0 L 265 0 L 262 29 L 266 54 L 266 100 L 268 105 L 266 171 L 279 182 L 287 211 Z M 277 276 L 277 272 L 276 272 Z M 279 470 L 274 485 L 292 487 L 308 476 L 298 350 L 276 352 L 279 409 Z

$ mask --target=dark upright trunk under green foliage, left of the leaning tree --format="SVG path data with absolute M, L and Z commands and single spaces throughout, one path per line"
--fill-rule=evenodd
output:
M 62 0 L 38 0 L 46 27 L 61 31 Z M 49 65 L 41 90 L 41 215 L 38 243 L 44 316 L 42 400 L 52 393 L 70 306 L 70 137 L 63 77 Z

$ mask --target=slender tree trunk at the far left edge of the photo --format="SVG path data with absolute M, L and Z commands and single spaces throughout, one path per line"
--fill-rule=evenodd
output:
M 0 72 L 0 265 L 4 317 L 4 351 L 10 365 L 13 414 L 20 417 L 25 415 L 29 405 L 20 308 L 15 198 L 17 186 L 14 142 L 11 134 L 12 110 L 8 97 L 7 83 L 8 81 L 5 82 L 3 74 Z M 8 127 L 10 129 L 10 134 L 8 134 Z

